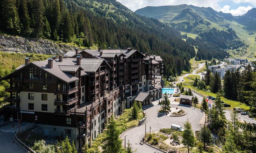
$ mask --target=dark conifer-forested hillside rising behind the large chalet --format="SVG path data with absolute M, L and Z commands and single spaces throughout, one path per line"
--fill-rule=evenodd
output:
M 136 15 L 116 1 L 3 0 L 1 31 L 79 46 L 124 48 L 161 55 L 165 75 L 189 71 L 193 46 L 178 31 L 157 19 Z

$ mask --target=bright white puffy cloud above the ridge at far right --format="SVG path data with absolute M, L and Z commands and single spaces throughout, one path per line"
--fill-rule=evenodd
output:
M 220 11 L 224 12 L 224 13 L 231 13 L 234 16 L 238 16 L 238 15 L 244 15 L 245 13 L 247 13 L 247 11 L 251 10 L 252 6 L 239 6 L 237 9 L 231 9 L 230 10 L 230 6 L 225 5 L 223 6 L 222 9 L 220 9 Z

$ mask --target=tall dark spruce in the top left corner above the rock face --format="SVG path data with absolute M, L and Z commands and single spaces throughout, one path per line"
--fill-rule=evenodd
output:
M 8 33 L 20 33 L 20 18 L 16 7 L 16 0 L 2 0 L 2 29 Z

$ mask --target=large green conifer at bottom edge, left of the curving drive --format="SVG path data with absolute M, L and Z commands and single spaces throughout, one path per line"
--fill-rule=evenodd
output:
M 119 138 L 119 135 L 120 132 L 112 115 L 107 126 L 105 142 L 102 145 L 102 153 L 122 152 L 122 140 Z

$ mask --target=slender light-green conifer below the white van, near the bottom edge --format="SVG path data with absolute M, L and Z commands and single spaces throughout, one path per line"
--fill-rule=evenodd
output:
M 194 147 L 195 145 L 195 136 L 192 130 L 191 123 L 185 121 L 184 123 L 184 131 L 182 132 L 182 140 L 181 143 L 188 147 L 188 153 L 189 153 L 189 148 Z

